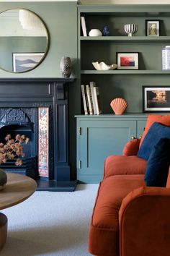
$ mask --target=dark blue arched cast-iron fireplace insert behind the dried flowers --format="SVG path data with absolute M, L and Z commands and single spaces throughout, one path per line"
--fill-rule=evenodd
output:
M 0 168 L 6 172 L 24 174 L 38 179 L 37 173 L 37 147 L 35 142 L 34 124 L 30 121 L 27 114 L 22 109 L 12 108 L 6 111 L 6 114 L 0 119 L 0 142 L 5 143 L 6 135 L 11 135 L 15 139 L 16 135 L 24 135 L 28 137 L 30 142 L 22 143 L 24 158 L 22 165 L 16 166 L 15 160 L 7 160 L 6 163 L 0 165 Z M 21 157 L 19 157 L 21 158 Z

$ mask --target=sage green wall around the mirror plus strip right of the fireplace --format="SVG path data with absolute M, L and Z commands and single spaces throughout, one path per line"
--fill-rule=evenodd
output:
M 77 3 L 75 2 L 0 2 L 0 11 L 25 8 L 35 12 L 45 22 L 50 35 L 50 47 L 44 61 L 30 72 L 12 74 L 0 69 L 0 77 L 61 77 L 62 56 L 70 56 L 73 62 L 71 77 L 77 77 Z M 79 114 L 80 97 L 77 80 L 69 86 L 69 141 L 71 178 L 76 178 L 76 120 Z M 78 99 L 77 99 L 78 98 Z M 76 99 L 76 101 L 75 101 Z

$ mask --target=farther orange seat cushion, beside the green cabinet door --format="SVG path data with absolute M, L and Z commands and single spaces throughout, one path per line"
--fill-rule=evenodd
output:
M 145 174 L 146 160 L 136 155 L 109 155 L 104 161 L 104 178 L 119 174 Z

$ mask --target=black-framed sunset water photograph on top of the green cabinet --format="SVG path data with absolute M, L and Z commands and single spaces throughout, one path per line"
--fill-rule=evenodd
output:
M 143 86 L 143 112 L 170 112 L 170 85 Z

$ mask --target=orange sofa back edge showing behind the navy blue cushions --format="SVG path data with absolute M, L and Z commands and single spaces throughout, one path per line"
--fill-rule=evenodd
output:
M 158 123 L 164 124 L 168 127 L 170 127 L 170 115 L 155 115 L 155 114 L 151 114 L 148 116 L 148 119 L 146 121 L 146 127 L 145 130 L 143 132 L 142 138 L 140 140 L 140 145 L 143 142 L 144 137 L 146 136 L 148 129 L 151 127 L 151 125 L 157 121 Z

